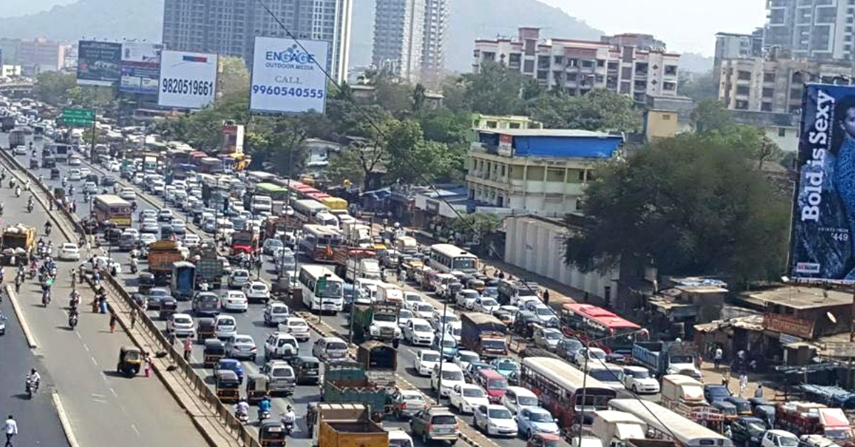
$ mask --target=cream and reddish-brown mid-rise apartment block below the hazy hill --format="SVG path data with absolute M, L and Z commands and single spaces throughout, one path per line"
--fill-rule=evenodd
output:
M 618 34 L 594 42 L 540 38 L 539 28 L 523 27 L 516 38 L 476 39 L 473 70 L 486 61 L 502 62 L 569 95 L 601 88 L 644 102 L 648 94 L 677 94 L 680 55 L 664 46 L 646 34 Z

